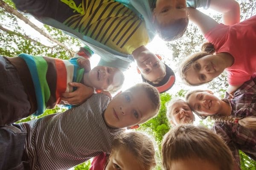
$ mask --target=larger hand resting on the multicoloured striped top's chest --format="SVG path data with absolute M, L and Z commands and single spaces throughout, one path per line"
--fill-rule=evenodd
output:
M 77 89 L 70 93 L 61 94 L 61 101 L 66 105 L 80 105 L 93 94 L 93 88 L 82 83 L 70 82 L 68 84 Z

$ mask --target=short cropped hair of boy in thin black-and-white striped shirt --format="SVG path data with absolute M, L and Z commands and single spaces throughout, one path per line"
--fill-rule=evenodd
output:
M 137 85 L 134 85 L 130 89 L 132 90 L 134 88 L 143 88 L 146 91 L 146 94 L 148 94 L 148 98 L 152 102 L 151 106 L 153 106 L 155 115 L 157 115 L 160 109 L 160 95 L 159 95 L 159 92 L 157 91 L 157 88 L 145 82 L 138 83 Z M 151 115 L 150 117 L 148 117 L 148 119 L 154 117 L 155 115 Z

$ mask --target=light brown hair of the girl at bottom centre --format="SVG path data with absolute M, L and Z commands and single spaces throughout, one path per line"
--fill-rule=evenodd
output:
M 141 170 L 151 170 L 156 166 L 154 143 L 149 136 L 137 131 L 122 133 L 113 140 L 111 153 L 120 147 L 134 155 Z

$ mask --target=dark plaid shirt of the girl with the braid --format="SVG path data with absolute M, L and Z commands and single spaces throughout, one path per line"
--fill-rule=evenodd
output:
M 256 74 L 253 74 L 251 79 L 234 93 L 233 99 L 226 94 L 223 101 L 230 103 L 233 117 L 256 116 Z M 238 123 L 224 122 L 215 122 L 213 130 L 230 147 L 239 166 L 239 150 L 256 160 L 256 130 L 247 129 Z

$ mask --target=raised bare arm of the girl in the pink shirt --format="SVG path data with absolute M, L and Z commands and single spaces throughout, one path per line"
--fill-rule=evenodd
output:
M 189 20 L 195 23 L 204 35 L 215 26 L 218 26 L 218 23 L 215 20 L 197 9 L 188 8 L 188 12 Z

